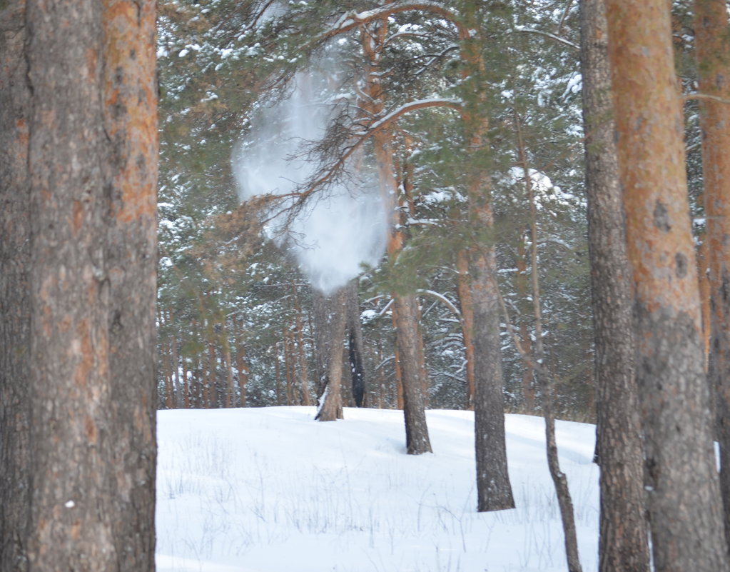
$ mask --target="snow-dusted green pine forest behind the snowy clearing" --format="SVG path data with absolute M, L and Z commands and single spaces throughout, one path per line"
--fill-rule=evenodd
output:
M 371 4 L 369 8 L 380 5 Z M 453 4 L 455 11 L 464 9 Z M 496 248 L 504 306 L 527 352 L 536 339 L 531 275 L 539 275 L 542 341 L 557 380 L 558 414 L 588 421 L 594 419 L 593 330 L 577 2 L 519 4 L 491 6 L 490 18 L 480 22 L 480 36 L 489 47 L 483 51 L 488 93 L 479 104 L 490 123 L 488 153 L 479 157 L 478 168 L 491 183 L 494 217 L 493 228 L 480 239 Z M 361 11 L 368 7 L 357 4 Z M 312 104 L 357 106 L 358 82 L 368 72 L 357 32 L 337 34 L 335 42 L 312 41 L 328 34 L 334 16 L 347 14 L 348 8 L 342 2 L 290 3 L 287 18 L 280 20 L 274 18 L 280 14 L 271 2 L 160 4 L 161 408 L 314 403 L 320 386 L 310 276 L 292 256 L 296 237 L 274 236 L 276 224 L 267 226 L 268 235 L 262 229 L 274 209 L 291 210 L 293 202 L 272 207 L 258 197 L 241 203 L 231 152 L 240 140 L 245 141 L 244 154 L 255 153 L 257 145 L 272 148 L 262 140 L 272 134 L 255 124 L 272 120 L 267 107 L 287 113 L 287 98 L 299 89 L 304 74 L 326 77 L 327 85 L 320 82 L 320 90 L 315 86 L 310 92 Z M 675 5 L 675 45 L 689 90 L 694 66 L 686 8 Z M 255 16 L 259 13 L 263 16 Z M 409 102 L 464 102 L 469 97 L 458 31 L 450 22 L 438 13 L 411 10 L 391 15 L 388 28 L 378 62 L 383 115 Z M 687 102 L 685 112 L 689 180 L 696 197 L 701 185 L 696 102 Z M 337 129 L 355 129 L 358 121 L 340 114 L 326 133 L 330 140 L 324 142 L 330 145 L 301 141 L 300 155 L 306 153 L 304 159 L 317 165 L 331 164 L 344 152 L 337 148 Z M 356 304 L 362 339 L 356 348 L 364 375 L 362 403 L 402 408 L 391 300 L 393 292 L 407 291 L 418 296 L 418 343 L 429 406 L 472 408 L 471 342 L 464 339 L 461 310 L 469 279 L 464 253 L 474 232 L 462 174 L 473 159 L 464 151 L 458 113 L 446 104 L 403 113 L 392 129 L 400 193 L 396 225 L 403 244 L 395 254 L 368 261 L 352 287 L 357 297 L 350 305 Z M 280 146 L 291 148 L 285 133 L 279 138 Z M 372 148 L 367 143 L 362 147 L 365 165 L 359 169 L 372 170 Z M 335 177 L 345 187 L 349 180 L 353 193 L 363 192 L 351 172 Z M 280 183 L 270 181 L 269 191 Z M 326 184 L 320 187 L 320 197 L 333 192 Z M 702 206 L 696 201 L 693 214 L 701 233 Z M 342 226 L 336 218 L 329 218 L 334 240 L 347 240 L 336 234 Z M 304 249 L 312 244 L 310 240 Z M 504 405 L 507 411 L 535 413 L 540 392 L 534 372 L 515 349 L 504 322 Z M 343 401 L 356 405 L 350 367 L 345 359 Z

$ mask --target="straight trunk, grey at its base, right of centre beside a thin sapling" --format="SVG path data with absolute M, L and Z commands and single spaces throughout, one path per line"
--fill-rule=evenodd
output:
M 504 436 L 502 382 L 502 341 L 499 338 L 499 289 L 496 282 L 496 249 L 491 186 L 485 176 L 485 153 L 488 152 L 488 127 L 485 102 L 483 48 L 479 32 L 483 8 L 467 2 L 464 7 L 466 29 L 476 33 L 461 37 L 461 60 L 466 92 L 461 111 L 466 150 L 466 192 L 469 226 L 480 237 L 469 249 L 474 308 L 475 351 L 475 449 L 477 458 L 477 510 L 501 511 L 514 508 L 510 475 L 507 472 L 507 444 Z

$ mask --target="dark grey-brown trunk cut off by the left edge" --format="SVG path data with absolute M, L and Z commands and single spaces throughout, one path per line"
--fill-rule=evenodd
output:
M 0 570 L 25 572 L 31 344 L 25 2 L 0 8 Z

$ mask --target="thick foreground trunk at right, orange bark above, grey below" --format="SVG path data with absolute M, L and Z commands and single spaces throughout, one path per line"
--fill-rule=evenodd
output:
M 728 571 L 669 3 L 606 7 L 654 566 Z

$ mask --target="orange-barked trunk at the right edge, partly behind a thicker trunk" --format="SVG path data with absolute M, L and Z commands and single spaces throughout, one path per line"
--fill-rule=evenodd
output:
M 730 99 L 730 27 L 724 0 L 695 0 L 699 91 Z M 715 394 L 725 534 L 730 542 L 730 107 L 699 102 L 704 214 L 710 267 L 710 392 Z

